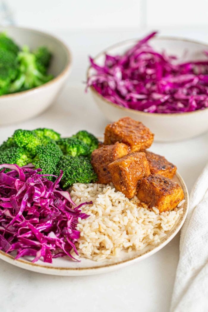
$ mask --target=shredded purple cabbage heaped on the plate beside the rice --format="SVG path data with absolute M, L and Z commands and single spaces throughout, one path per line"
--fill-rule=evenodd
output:
M 33 256 L 32 262 L 40 257 L 49 263 L 61 256 L 73 258 L 72 250 L 78 255 L 78 218 L 89 217 L 80 207 L 92 202 L 76 206 L 59 187 L 63 172 L 51 182 L 40 171 L 31 164 L 0 165 L 0 250 L 16 251 L 16 259 Z

